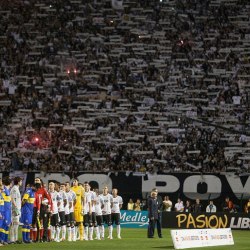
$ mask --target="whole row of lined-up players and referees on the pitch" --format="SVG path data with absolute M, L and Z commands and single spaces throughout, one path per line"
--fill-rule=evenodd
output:
M 8 178 L 0 185 L 0 240 L 3 244 L 18 242 L 19 219 L 23 243 L 93 240 L 94 237 L 101 240 L 105 238 L 104 224 L 108 226 L 108 238 L 113 239 L 114 223 L 117 238 L 121 239 L 123 201 L 117 189 L 113 189 L 111 195 L 105 186 L 99 194 L 98 189 L 91 191 L 88 182 L 82 186 L 73 179 L 72 186 L 69 182 L 50 182 L 47 191 L 42 180 L 35 178 L 35 183 L 27 186 L 21 199 L 21 185 L 19 177 L 14 178 L 12 188 Z

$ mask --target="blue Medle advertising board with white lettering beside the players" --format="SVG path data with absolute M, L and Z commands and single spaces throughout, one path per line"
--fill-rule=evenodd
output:
M 147 212 L 121 210 L 121 226 L 128 228 L 147 228 Z

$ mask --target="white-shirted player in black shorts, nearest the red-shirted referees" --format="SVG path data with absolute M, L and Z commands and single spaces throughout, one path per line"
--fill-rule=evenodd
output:
M 58 207 L 60 207 L 61 198 L 59 193 L 55 190 L 55 183 L 49 183 L 49 194 L 52 200 L 52 215 L 51 215 L 51 240 L 55 240 L 56 242 L 60 242 L 60 228 L 59 228 L 59 214 Z M 56 237 L 55 237 L 56 235 Z

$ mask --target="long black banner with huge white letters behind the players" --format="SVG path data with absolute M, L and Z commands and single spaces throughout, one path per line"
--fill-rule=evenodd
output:
M 2 177 L 6 175 L 9 175 L 9 173 L 2 173 Z M 70 181 L 73 174 L 71 172 L 29 172 L 27 173 L 26 184 L 33 183 L 36 176 L 41 177 L 44 183 L 48 185 L 49 181 Z M 237 176 L 232 173 L 200 175 L 196 173 L 77 172 L 74 173 L 74 177 L 77 177 L 81 183 L 88 181 L 91 187 L 100 190 L 103 186 L 108 186 L 109 190 L 117 188 L 119 194 L 123 197 L 124 205 L 130 198 L 133 200 L 137 198 L 146 199 L 155 187 L 162 197 L 168 195 L 174 203 L 177 198 L 184 201 L 199 198 L 201 202 L 204 201 L 204 205 L 207 204 L 207 200 L 213 200 L 218 207 L 218 211 L 221 210 L 221 204 L 226 196 L 230 197 L 238 205 L 240 200 L 250 198 L 250 176 Z M 123 208 L 126 209 L 126 207 Z

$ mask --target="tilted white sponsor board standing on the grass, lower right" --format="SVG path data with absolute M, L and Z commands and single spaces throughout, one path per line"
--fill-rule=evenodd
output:
M 231 228 L 171 230 L 175 249 L 234 245 Z

